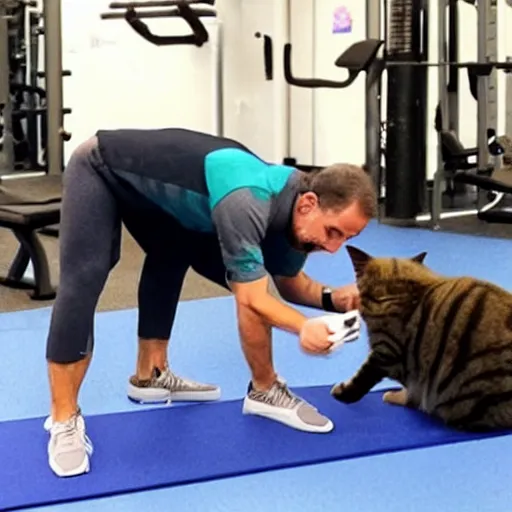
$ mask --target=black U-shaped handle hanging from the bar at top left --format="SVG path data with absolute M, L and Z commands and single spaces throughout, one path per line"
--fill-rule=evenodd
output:
M 124 14 L 128 24 L 143 37 L 146 41 L 156 46 L 168 46 L 177 44 L 194 44 L 202 46 L 208 41 L 208 32 L 206 31 L 201 20 L 194 11 L 184 3 L 178 5 L 179 14 L 189 24 L 193 34 L 188 36 L 158 36 L 153 34 L 148 26 L 139 18 L 134 8 L 128 8 Z

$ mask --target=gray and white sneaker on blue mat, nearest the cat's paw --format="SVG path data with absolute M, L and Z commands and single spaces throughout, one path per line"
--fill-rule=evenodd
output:
M 281 380 L 277 380 L 267 392 L 254 389 L 250 383 L 243 413 L 263 416 L 305 432 L 327 433 L 334 428 L 329 418 L 294 395 Z

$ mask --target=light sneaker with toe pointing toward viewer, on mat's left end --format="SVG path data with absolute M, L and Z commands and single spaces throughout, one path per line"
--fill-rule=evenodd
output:
M 93 446 L 85 433 L 85 421 L 80 411 L 64 422 L 47 419 L 45 429 L 50 433 L 48 462 L 53 472 L 60 477 L 87 473 Z

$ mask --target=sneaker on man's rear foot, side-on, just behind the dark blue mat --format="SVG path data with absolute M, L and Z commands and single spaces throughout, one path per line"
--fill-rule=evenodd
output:
M 220 388 L 184 379 L 169 369 L 153 370 L 151 379 L 141 380 L 135 375 L 128 382 L 128 398 L 138 403 L 209 402 L 220 398 Z

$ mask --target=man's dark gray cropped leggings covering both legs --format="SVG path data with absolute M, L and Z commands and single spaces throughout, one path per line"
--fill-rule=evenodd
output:
M 109 186 L 108 173 L 95 137 L 75 150 L 64 172 L 60 279 L 46 347 L 49 361 L 72 363 L 92 352 L 94 313 L 119 261 L 122 223 L 146 254 L 138 289 L 140 338 L 169 338 L 189 267 L 227 288 L 214 235 L 187 232 L 135 191 Z

